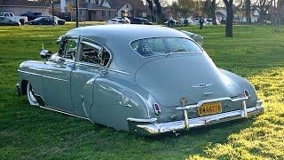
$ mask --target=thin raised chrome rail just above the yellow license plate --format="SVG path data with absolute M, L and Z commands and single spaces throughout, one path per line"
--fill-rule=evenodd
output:
M 235 101 L 241 101 L 241 100 L 248 100 L 248 97 L 241 97 L 241 98 L 236 98 L 236 99 L 232 99 L 231 97 L 223 97 L 223 98 L 211 99 L 211 100 L 201 100 L 197 104 L 188 105 L 188 106 L 185 106 L 185 107 L 177 107 L 176 109 L 177 110 L 184 110 L 184 109 L 189 109 L 189 108 L 199 108 L 204 103 L 222 101 L 222 100 L 231 100 L 231 101 L 235 102 Z

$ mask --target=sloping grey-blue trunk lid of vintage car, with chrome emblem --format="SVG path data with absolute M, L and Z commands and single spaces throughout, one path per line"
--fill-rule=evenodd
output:
M 163 107 L 180 106 L 200 100 L 235 97 L 241 88 L 222 75 L 207 54 L 171 55 L 146 62 L 135 81 L 151 93 Z

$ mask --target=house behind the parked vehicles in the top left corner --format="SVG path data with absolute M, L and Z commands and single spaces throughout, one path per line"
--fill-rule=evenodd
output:
M 24 12 L 42 12 L 49 15 L 51 4 L 36 0 L 0 0 L 0 12 L 13 12 L 20 15 Z

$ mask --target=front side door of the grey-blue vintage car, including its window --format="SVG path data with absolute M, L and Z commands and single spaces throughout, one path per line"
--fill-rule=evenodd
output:
M 59 52 L 45 63 L 43 69 L 43 100 L 49 108 L 73 113 L 70 76 L 75 66 L 77 37 L 64 37 Z

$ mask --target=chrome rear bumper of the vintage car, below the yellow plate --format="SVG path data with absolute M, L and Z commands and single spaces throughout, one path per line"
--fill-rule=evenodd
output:
M 174 121 L 174 122 L 161 123 L 161 124 L 156 123 L 157 121 L 156 118 L 145 119 L 145 121 L 143 121 L 143 119 L 128 118 L 128 121 L 138 122 L 138 124 L 136 124 L 136 127 L 134 129 L 134 132 L 152 135 L 152 134 L 159 134 L 163 132 L 176 132 L 176 131 L 185 130 L 188 128 L 194 128 L 194 127 L 199 127 L 199 126 L 209 125 L 209 124 L 217 124 L 221 122 L 245 118 L 248 116 L 260 115 L 264 112 L 264 108 L 261 105 L 262 105 L 262 101 L 257 100 L 256 107 L 253 107 L 253 108 L 243 108 L 240 110 L 220 113 L 217 115 L 201 116 L 201 117 L 196 117 L 192 119 L 187 119 L 187 121 L 182 120 L 182 121 Z

